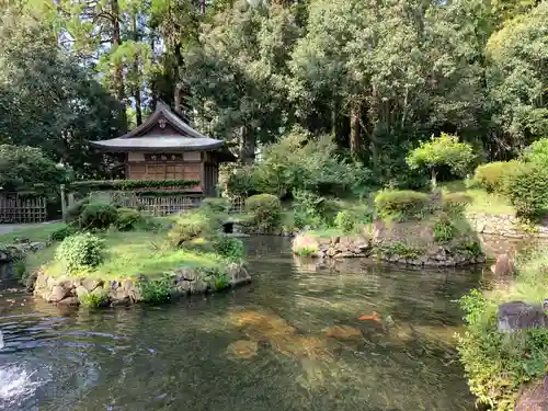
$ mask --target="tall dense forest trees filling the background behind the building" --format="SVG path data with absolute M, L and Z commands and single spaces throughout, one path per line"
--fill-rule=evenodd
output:
M 546 1 L 16 0 L 0 23 L 0 141 L 78 175 L 87 141 L 158 100 L 241 163 L 295 126 L 376 181 L 418 184 L 406 155 L 458 135 L 509 160 L 548 132 Z

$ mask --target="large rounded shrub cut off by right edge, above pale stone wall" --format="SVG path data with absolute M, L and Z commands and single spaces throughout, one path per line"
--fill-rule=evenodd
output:
M 529 163 L 506 179 L 506 195 L 518 217 L 539 219 L 548 208 L 548 168 Z

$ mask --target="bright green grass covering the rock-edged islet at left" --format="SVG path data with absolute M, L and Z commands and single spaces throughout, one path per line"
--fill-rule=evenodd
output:
M 105 240 L 105 261 L 95 270 L 78 273 L 77 276 L 121 279 L 142 274 L 153 277 L 184 266 L 210 267 L 225 264 L 217 254 L 170 248 L 163 232 L 107 232 L 101 237 Z M 30 255 L 27 267 L 43 266 L 53 276 L 64 276 L 62 264 L 54 259 L 56 248 L 54 244 Z

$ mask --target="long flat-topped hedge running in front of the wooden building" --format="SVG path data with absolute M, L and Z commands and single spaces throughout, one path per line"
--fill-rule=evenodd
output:
M 77 181 L 68 185 L 73 191 L 118 190 L 135 191 L 136 189 L 189 189 L 199 184 L 197 180 L 90 180 Z

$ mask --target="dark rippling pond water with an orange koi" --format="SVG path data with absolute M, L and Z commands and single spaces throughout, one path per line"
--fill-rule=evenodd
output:
M 275 237 L 248 252 L 253 284 L 160 307 L 60 310 L 0 290 L 0 409 L 473 409 L 454 300 L 481 270 L 321 266 Z

